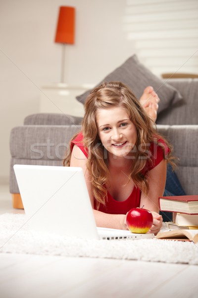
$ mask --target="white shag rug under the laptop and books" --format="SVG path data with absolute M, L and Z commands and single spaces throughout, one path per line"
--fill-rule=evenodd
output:
M 198 244 L 161 239 L 84 240 L 30 230 L 24 214 L 0 216 L 0 252 L 198 265 Z

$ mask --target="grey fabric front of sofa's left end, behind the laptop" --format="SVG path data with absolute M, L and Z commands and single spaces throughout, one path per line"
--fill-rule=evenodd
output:
M 14 164 L 63 165 L 65 151 L 80 125 L 24 125 L 10 134 L 10 192 L 19 193 Z

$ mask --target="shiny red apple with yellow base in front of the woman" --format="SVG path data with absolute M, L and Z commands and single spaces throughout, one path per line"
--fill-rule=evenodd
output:
M 126 224 L 132 233 L 145 234 L 152 226 L 152 213 L 143 208 L 132 208 L 126 217 Z

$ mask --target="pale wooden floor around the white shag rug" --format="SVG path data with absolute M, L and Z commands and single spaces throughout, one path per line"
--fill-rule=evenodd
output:
M 0 214 L 7 212 L 16 211 L 5 185 Z M 0 253 L 0 298 L 64 297 L 197 298 L 198 266 Z

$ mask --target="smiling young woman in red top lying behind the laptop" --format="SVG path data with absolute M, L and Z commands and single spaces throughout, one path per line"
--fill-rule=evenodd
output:
M 154 127 L 153 92 L 143 94 L 144 108 L 121 82 L 102 83 L 87 97 L 82 132 L 72 139 L 64 164 L 83 168 L 98 226 L 127 229 L 127 212 L 144 206 L 153 215 L 150 232 L 160 230 L 158 197 L 172 157 Z

